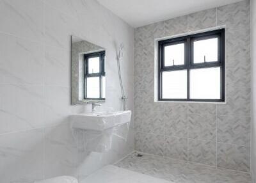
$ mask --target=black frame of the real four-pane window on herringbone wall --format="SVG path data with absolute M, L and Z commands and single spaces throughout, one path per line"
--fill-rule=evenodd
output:
M 218 37 L 218 61 L 193 63 L 193 41 L 206 40 Z M 164 46 L 184 42 L 184 65 L 164 66 Z M 221 99 L 190 99 L 190 70 L 195 68 L 220 67 L 220 96 Z M 167 71 L 187 70 L 187 99 L 163 99 L 162 98 L 162 74 Z M 159 101 L 191 101 L 191 102 L 225 102 L 225 29 L 196 33 L 193 35 L 160 40 L 158 42 L 158 100 Z

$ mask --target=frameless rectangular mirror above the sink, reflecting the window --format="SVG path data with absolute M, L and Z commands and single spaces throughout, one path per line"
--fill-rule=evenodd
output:
M 105 101 L 105 49 L 71 36 L 72 104 Z

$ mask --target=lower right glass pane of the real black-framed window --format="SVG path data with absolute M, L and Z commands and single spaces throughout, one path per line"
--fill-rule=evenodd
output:
M 191 99 L 220 99 L 220 67 L 190 70 Z

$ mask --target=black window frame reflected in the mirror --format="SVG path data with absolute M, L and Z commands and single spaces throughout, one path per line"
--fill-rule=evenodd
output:
M 89 74 L 89 59 L 90 58 L 95 58 L 99 57 L 100 58 L 100 68 L 98 73 L 91 73 Z M 92 52 L 88 54 L 84 54 L 84 100 L 105 100 L 105 98 L 102 97 L 102 77 L 105 77 L 106 72 L 105 72 L 105 51 L 99 51 L 99 52 Z M 99 77 L 100 82 L 99 82 L 99 90 L 100 90 L 100 97 L 99 98 L 88 98 L 87 97 L 87 78 L 88 77 Z

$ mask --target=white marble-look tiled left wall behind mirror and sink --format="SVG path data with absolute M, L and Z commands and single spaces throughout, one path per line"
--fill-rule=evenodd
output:
M 0 24 L 0 147 L 4 148 L 0 182 L 33 182 L 58 175 L 78 177 L 77 147 L 68 116 L 89 112 L 92 107 L 70 105 L 70 35 L 106 48 L 107 100 L 99 110 L 122 109 L 116 47 L 125 45 L 122 79 L 129 98 L 127 109 L 132 110 L 134 29 L 94 0 L 0 0 Z M 45 146 L 39 134 L 20 132 L 33 128 L 43 131 L 44 127 Z M 90 157 L 82 156 L 81 175 L 131 152 L 133 128 L 131 124 L 127 139 L 113 141 L 108 154 L 88 164 L 83 163 Z M 20 140 L 15 141 L 16 137 Z M 26 143 L 28 148 L 23 148 Z M 35 143 L 35 148 L 30 148 L 30 143 Z M 30 151 L 37 152 L 37 146 L 42 148 L 38 156 L 33 154 L 29 159 Z M 10 154 L 5 152 L 10 151 L 9 147 Z M 15 151 L 19 151 L 17 158 Z M 13 168 L 15 160 L 17 169 Z M 42 172 L 38 171 L 38 162 Z M 95 169 L 92 164 L 97 164 Z

